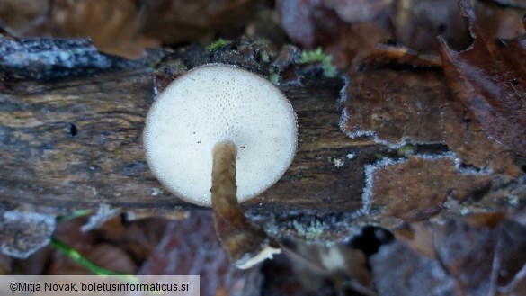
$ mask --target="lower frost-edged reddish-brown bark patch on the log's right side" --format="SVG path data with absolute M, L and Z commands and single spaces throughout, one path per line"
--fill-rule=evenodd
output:
M 463 202 L 490 189 L 492 178 L 459 169 L 452 154 L 384 159 L 366 166 L 363 209 L 402 220 L 424 220 L 443 209 L 448 197 Z

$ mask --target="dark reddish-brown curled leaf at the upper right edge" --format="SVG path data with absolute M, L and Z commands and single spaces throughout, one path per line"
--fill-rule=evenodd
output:
M 456 52 L 439 37 L 448 84 L 488 136 L 526 156 L 526 61 L 520 58 L 526 49 L 495 43 L 477 25 L 469 1 L 460 0 L 459 7 L 475 40 Z

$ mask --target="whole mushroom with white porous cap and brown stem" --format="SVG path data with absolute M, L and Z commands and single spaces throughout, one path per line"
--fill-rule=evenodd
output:
M 240 268 L 280 252 L 238 202 L 281 178 L 297 138 L 296 113 L 280 90 L 262 76 L 217 64 L 168 85 L 144 130 L 153 174 L 183 200 L 211 205 L 219 241 Z

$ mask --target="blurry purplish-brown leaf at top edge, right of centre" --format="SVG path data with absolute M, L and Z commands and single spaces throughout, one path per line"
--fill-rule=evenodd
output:
M 343 68 L 388 38 L 387 12 L 392 2 L 277 1 L 276 11 L 291 40 L 307 49 L 323 47 L 334 65 Z

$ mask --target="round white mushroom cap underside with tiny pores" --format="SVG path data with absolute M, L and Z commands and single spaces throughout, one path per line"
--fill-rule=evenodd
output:
M 172 193 L 211 205 L 212 148 L 236 144 L 237 200 L 276 183 L 296 153 L 292 106 L 261 76 L 226 65 L 196 67 L 159 94 L 147 115 L 147 162 Z

